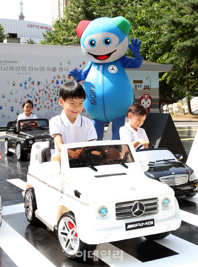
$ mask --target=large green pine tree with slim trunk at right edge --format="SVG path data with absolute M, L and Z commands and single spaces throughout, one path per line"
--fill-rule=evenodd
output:
M 161 80 L 174 80 L 175 90 L 186 90 L 188 111 L 191 114 L 191 91 L 198 89 L 198 0 L 164 1 L 174 13 L 157 22 L 166 32 L 158 42 L 173 45 L 165 60 L 173 64 L 173 69 L 165 73 Z

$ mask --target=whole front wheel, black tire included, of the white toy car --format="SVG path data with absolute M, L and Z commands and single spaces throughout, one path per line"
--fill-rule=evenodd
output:
M 73 230 L 69 229 L 69 226 L 68 226 L 69 222 L 73 224 L 74 226 L 74 228 L 72 228 Z M 71 237 L 68 237 L 69 234 Z M 87 256 L 88 251 L 89 253 L 91 253 L 97 247 L 97 245 L 89 245 L 89 244 L 86 244 L 85 242 L 82 242 L 79 239 L 79 237 L 77 236 L 76 220 L 75 220 L 74 213 L 72 211 L 66 212 L 60 217 L 58 221 L 58 225 L 57 225 L 57 236 L 58 236 L 59 245 L 61 246 L 62 251 L 70 259 L 76 259 L 76 258 L 82 257 L 84 255 L 84 251 Z M 65 244 L 65 242 L 66 242 L 66 245 L 65 247 L 63 247 L 63 244 Z

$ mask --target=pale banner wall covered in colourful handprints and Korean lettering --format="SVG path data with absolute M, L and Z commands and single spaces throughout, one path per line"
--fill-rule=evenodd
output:
M 6 50 L 5 46 L 6 44 L 3 48 Z M 35 46 L 33 47 L 35 49 Z M 73 53 L 69 53 L 71 56 L 58 56 L 59 49 L 56 49 L 56 46 L 50 47 L 56 54 L 55 58 L 46 56 L 45 53 L 39 53 L 35 58 L 35 55 L 31 56 L 31 45 L 18 45 L 23 56 L 11 61 L 17 63 L 0 63 L 0 127 L 17 119 L 23 112 L 22 103 L 26 99 L 33 102 L 33 113 L 38 118 L 51 119 L 60 115 L 63 108 L 59 104 L 59 90 L 65 82 L 75 81 L 75 78 L 68 76 L 68 72 L 74 68 L 84 69 L 88 62 L 79 47 L 72 47 Z M 38 50 L 42 51 L 43 48 L 46 49 L 46 46 L 38 46 Z M 7 62 L 10 55 L 2 50 L 1 57 L 5 60 L 1 62 Z M 71 47 L 69 50 L 71 51 Z M 25 57 L 24 52 L 28 56 Z M 84 85 L 84 81 L 80 83 Z M 88 117 L 85 110 L 82 115 Z

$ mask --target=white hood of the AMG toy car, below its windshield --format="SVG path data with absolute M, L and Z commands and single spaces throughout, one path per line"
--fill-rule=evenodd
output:
M 125 170 L 124 170 L 125 171 Z M 82 195 L 80 199 L 95 199 L 112 201 L 114 199 L 126 199 L 144 194 L 145 198 L 149 195 L 160 195 L 164 192 L 172 193 L 173 190 L 168 185 L 164 185 L 156 180 L 148 179 L 142 171 L 126 171 L 127 175 L 97 178 L 93 174 L 85 178 L 75 179 L 75 183 L 70 182 L 66 191 L 69 195 L 74 195 L 77 190 Z M 85 184 L 86 180 L 86 184 Z M 132 188 L 132 189 L 131 189 Z M 135 190 L 134 190 L 135 189 Z M 67 193 L 66 192 L 66 193 Z

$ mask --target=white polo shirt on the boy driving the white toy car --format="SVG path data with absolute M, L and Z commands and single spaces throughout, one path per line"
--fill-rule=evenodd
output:
M 53 137 L 54 134 L 62 136 L 64 144 L 87 142 L 93 139 L 98 139 L 93 122 L 80 114 L 75 119 L 74 124 L 65 115 L 64 110 L 61 115 L 51 118 L 49 121 L 50 135 Z M 56 142 L 55 152 L 59 152 Z

